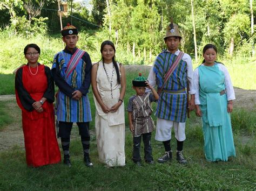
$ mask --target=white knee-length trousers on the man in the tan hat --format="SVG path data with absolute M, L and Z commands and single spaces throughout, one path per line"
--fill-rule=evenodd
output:
M 157 118 L 156 140 L 164 142 L 172 138 L 172 127 L 174 126 L 175 138 L 179 142 L 186 139 L 185 126 L 186 122 L 174 122 L 166 119 Z

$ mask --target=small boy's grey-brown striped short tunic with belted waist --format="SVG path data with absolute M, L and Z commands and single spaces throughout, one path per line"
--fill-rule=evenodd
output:
M 143 96 L 134 96 L 132 100 L 133 135 L 141 135 L 154 130 L 154 122 L 150 117 L 153 110 L 151 108 L 149 95 L 150 93 L 146 93 Z

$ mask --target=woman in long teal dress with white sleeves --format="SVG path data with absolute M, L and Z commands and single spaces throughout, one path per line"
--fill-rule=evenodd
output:
M 196 115 L 202 117 L 204 152 L 207 161 L 227 161 L 235 157 L 230 113 L 235 99 L 227 68 L 216 62 L 217 48 L 207 44 L 204 61 L 194 70 Z

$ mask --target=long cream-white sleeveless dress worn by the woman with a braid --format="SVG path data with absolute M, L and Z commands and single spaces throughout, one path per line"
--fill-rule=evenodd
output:
M 119 64 L 118 64 L 119 67 Z M 105 72 L 106 69 L 106 72 Z M 97 89 L 102 101 L 111 108 L 116 104 L 120 96 L 120 84 L 117 83 L 116 70 L 113 69 L 113 63 L 100 61 L 97 70 Z M 109 79 L 107 78 L 107 74 Z M 111 95 L 112 79 L 112 95 Z M 97 148 L 100 162 L 107 166 L 124 166 L 125 165 L 125 117 L 124 103 L 120 105 L 116 112 L 105 114 L 93 95 L 96 116 L 95 129 L 97 138 Z

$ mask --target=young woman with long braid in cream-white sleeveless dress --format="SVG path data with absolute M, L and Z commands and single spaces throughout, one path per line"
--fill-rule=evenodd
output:
M 111 41 L 104 41 L 100 52 L 102 60 L 92 66 L 91 74 L 96 105 L 95 129 L 99 160 L 106 166 L 124 166 L 125 70 L 114 60 L 116 49 Z

